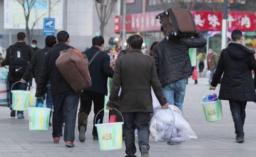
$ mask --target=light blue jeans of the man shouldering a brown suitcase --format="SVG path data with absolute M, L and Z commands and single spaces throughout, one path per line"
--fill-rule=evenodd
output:
M 180 108 L 183 113 L 183 102 L 186 92 L 187 78 L 172 82 L 163 87 L 163 93 L 170 105 Z

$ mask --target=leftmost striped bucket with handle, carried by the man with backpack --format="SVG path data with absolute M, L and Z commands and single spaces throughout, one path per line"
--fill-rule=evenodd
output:
M 18 82 L 15 82 L 14 84 L 16 84 Z M 13 85 L 12 85 L 12 87 L 13 87 Z M 18 111 L 27 110 L 28 103 L 29 103 L 29 94 L 30 94 L 30 92 L 29 91 L 23 91 L 23 90 L 13 90 L 12 91 L 12 87 L 11 87 L 12 109 L 18 110 Z

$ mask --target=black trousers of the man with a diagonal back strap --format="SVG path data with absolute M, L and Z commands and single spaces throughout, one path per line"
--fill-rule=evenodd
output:
M 91 106 L 93 102 L 94 119 L 93 119 L 92 136 L 97 136 L 97 129 L 94 126 L 94 121 L 97 113 L 99 113 L 99 111 L 104 108 L 104 99 L 105 99 L 104 94 L 100 94 L 92 91 L 85 91 L 85 90 L 83 91 L 80 99 L 80 109 L 78 113 L 78 130 L 80 130 L 81 125 L 84 125 L 85 128 L 87 128 L 87 119 L 91 112 Z M 102 110 L 101 113 L 98 115 L 96 119 L 96 123 L 99 121 L 99 119 L 101 120 L 100 123 L 103 123 L 103 117 L 104 117 L 104 110 Z

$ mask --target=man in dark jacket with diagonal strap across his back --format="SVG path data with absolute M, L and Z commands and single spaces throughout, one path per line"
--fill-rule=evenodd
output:
M 110 58 L 106 52 L 103 52 L 104 38 L 97 36 L 92 38 L 92 47 L 84 52 L 89 60 L 89 71 L 92 85 L 86 88 L 81 96 L 80 109 L 78 113 L 79 140 L 85 141 L 85 132 L 87 129 L 87 119 L 91 112 L 92 102 L 94 105 L 94 119 L 92 136 L 93 140 L 98 140 L 97 130 L 94 121 L 97 113 L 104 108 L 105 95 L 108 94 L 108 77 L 112 78 L 114 71 L 110 67 Z M 96 119 L 103 123 L 104 112 L 101 112 Z

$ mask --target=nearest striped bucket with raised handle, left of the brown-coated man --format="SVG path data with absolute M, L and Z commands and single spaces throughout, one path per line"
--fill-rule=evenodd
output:
M 113 109 L 115 109 L 115 108 L 113 108 Z M 99 113 L 102 110 L 100 110 Z M 115 109 L 115 110 L 117 110 L 117 109 Z M 99 115 L 99 113 L 96 115 L 96 117 Z M 121 115 L 121 113 L 120 113 L 120 115 Z M 96 120 L 96 117 L 95 117 L 95 120 Z M 123 118 L 123 116 L 122 116 L 122 118 Z M 124 118 L 123 118 L 123 121 L 124 121 Z M 97 128 L 97 133 L 98 133 L 98 138 L 99 138 L 99 145 L 100 145 L 101 150 L 119 150 L 119 149 L 122 149 L 122 145 L 123 145 L 123 124 L 124 124 L 123 122 L 105 123 L 105 124 L 96 124 L 95 123 L 95 126 Z

